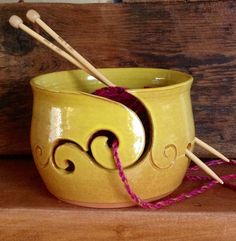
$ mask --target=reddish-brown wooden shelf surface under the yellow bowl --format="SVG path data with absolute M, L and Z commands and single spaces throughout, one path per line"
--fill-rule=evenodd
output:
M 176 193 L 194 186 L 185 182 Z M 236 235 L 236 193 L 220 185 L 159 211 L 82 208 L 51 196 L 31 160 L 1 159 L 0 190 L 2 241 L 232 241 Z

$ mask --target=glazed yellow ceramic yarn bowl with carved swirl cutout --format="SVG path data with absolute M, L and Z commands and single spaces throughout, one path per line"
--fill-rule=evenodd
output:
M 125 105 L 93 95 L 104 85 L 81 70 L 33 78 L 31 149 L 47 189 L 81 206 L 134 205 L 112 156 L 115 136 L 133 190 L 148 201 L 170 194 L 187 171 L 186 148 L 193 149 L 192 77 L 155 68 L 100 71 L 141 101 L 150 128 Z

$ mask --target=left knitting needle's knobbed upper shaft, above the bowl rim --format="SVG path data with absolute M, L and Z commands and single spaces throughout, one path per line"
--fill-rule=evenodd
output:
M 76 67 L 84 69 L 84 67 L 77 60 L 75 60 L 71 55 L 69 55 L 65 51 L 61 50 L 56 45 L 54 45 L 53 43 L 51 43 L 50 41 L 48 41 L 47 39 L 45 39 L 44 37 L 42 37 L 41 35 L 36 33 L 35 31 L 33 31 L 32 29 L 30 29 L 26 25 L 24 25 L 24 23 L 20 17 L 18 17 L 16 15 L 11 16 L 9 19 L 9 23 L 14 28 L 20 28 L 21 30 L 23 30 L 24 32 L 26 32 L 27 34 L 32 36 L 33 38 L 37 39 L 40 43 L 46 45 L 48 48 L 50 48 L 51 50 L 53 50 L 54 52 L 56 52 L 63 58 L 67 59 L 69 62 L 74 64 Z

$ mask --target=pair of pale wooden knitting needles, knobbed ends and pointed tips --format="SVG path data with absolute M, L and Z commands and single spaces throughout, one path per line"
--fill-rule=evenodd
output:
M 74 64 L 76 67 L 84 70 L 88 74 L 91 74 L 98 80 L 100 80 L 103 84 L 107 86 L 115 86 L 111 83 L 101 72 L 99 72 L 91 63 L 89 63 L 83 56 L 81 56 L 75 49 L 73 49 L 64 39 L 62 39 L 54 30 L 52 30 L 41 18 L 38 12 L 31 9 L 26 14 L 27 18 L 33 22 L 38 24 L 45 32 L 47 32 L 53 39 L 55 39 L 67 52 L 60 49 L 29 27 L 27 27 L 22 19 L 16 15 L 11 16 L 9 19 L 9 23 L 14 28 L 19 28 L 41 42 L 42 44 L 46 45 L 48 48 L 62 56 L 63 58 L 67 59 L 69 62 Z M 229 162 L 229 159 L 226 158 L 223 154 L 215 150 L 213 147 L 208 145 L 207 143 L 203 142 L 199 138 L 195 137 L 194 143 L 201 146 L 203 149 L 209 151 L 213 155 L 219 157 L 220 159 Z M 223 184 L 224 182 L 221 178 L 213 172 L 204 162 L 202 162 L 196 155 L 194 155 L 190 150 L 186 149 L 185 155 L 192 160 L 196 165 L 198 165 L 203 171 L 205 171 L 209 176 L 211 176 L 217 182 Z

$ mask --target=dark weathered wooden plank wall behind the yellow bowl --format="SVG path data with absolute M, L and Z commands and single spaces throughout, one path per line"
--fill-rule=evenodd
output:
M 73 68 L 9 26 L 12 14 L 25 19 L 30 8 L 39 11 L 52 28 L 96 67 L 160 67 L 192 74 L 197 136 L 228 157 L 236 156 L 236 2 L 233 0 L 0 5 L 0 154 L 30 151 L 29 79 Z M 197 152 L 200 157 L 210 157 L 202 150 Z

